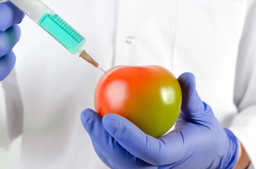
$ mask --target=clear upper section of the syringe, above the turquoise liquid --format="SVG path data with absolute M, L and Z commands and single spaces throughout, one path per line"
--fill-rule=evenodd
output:
M 9 0 L 36 23 L 46 12 L 53 13 L 41 0 Z

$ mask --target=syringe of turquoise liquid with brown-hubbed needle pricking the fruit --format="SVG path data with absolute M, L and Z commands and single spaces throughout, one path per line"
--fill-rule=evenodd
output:
M 79 54 L 87 62 L 96 68 L 99 64 L 81 48 L 86 39 L 67 24 L 61 17 L 55 14 L 41 0 L 9 0 L 28 17 L 35 21 L 41 28 L 61 43 L 72 54 Z M 101 69 L 101 68 L 100 68 Z M 102 70 L 105 72 L 104 70 Z

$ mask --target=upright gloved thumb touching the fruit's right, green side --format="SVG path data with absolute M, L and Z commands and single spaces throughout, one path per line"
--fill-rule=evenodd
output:
M 181 114 L 186 119 L 200 120 L 211 112 L 211 107 L 204 103 L 196 91 L 195 76 L 186 72 L 178 77 L 182 91 Z

